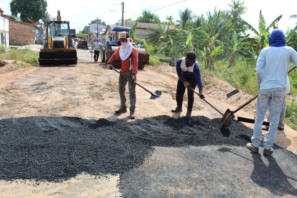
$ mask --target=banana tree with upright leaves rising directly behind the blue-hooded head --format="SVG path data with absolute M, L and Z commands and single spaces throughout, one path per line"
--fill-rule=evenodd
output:
M 260 52 L 261 49 L 264 47 L 267 47 L 268 44 L 268 37 L 270 35 L 269 30 L 271 28 L 278 28 L 277 23 L 278 21 L 282 19 L 282 15 L 279 15 L 276 19 L 273 20 L 273 22 L 266 27 L 266 21 L 264 19 L 264 16 L 262 15 L 262 11 L 260 10 L 260 16 L 259 16 L 259 31 L 257 31 L 255 28 L 252 27 L 252 25 L 248 24 L 246 21 L 243 21 L 243 23 L 250 29 L 252 30 L 258 40 L 258 45 L 257 45 L 257 50 Z

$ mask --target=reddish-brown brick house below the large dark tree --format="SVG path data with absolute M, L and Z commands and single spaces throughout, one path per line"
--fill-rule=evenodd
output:
M 9 19 L 10 45 L 31 45 L 38 41 L 39 29 L 37 25 Z

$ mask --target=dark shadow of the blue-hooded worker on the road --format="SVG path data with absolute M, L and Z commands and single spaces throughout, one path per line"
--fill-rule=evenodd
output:
M 278 163 L 273 156 L 264 156 L 269 162 L 268 166 L 266 166 L 264 161 L 261 159 L 261 155 L 259 153 L 252 153 L 252 157 L 255 168 L 252 172 L 251 179 L 257 185 L 266 188 L 277 196 L 284 196 L 286 194 L 293 196 L 297 195 L 297 189 L 288 181 L 288 179 L 295 179 L 286 176 L 283 173 L 281 167 L 278 166 Z

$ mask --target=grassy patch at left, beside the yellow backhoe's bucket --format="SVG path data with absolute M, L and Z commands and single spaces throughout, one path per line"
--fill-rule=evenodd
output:
M 0 59 L 23 61 L 28 63 L 30 66 L 37 66 L 39 65 L 38 56 L 39 54 L 37 52 L 34 52 L 28 48 L 11 49 L 11 51 L 6 51 L 5 53 L 1 53 Z

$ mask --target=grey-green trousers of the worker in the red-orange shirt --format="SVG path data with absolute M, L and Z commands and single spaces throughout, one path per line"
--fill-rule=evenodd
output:
M 131 79 L 131 73 L 122 73 L 129 77 Z M 136 80 L 136 75 L 135 75 Z M 118 79 L 118 90 L 120 93 L 120 99 L 121 99 L 121 105 L 126 106 L 126 96 L 125 96 L 125 90 L 126 90 L 126 84 L 128 82 L 128 89 L 129 89 L 129 97 L 130 97 L 130 111 L 135 111 L 135 104 L 136 104 L 136 83 L 131 82 L 130 80 L 127 80 L 123 75 L 119 76 Z

